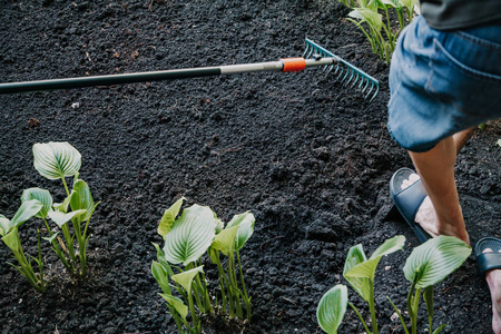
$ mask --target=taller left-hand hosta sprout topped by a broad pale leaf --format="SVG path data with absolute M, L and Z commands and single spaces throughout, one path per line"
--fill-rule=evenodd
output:
M 99 203 L 94 203 L 89 186 L 79 179 L 81 155 L 68 143 L 35 144 L 33 165 L 41 176 L 48 179 L 61 179 L 67 196 L 63 203 L 53 204 L 46 213 L 46 216 L 62 230 L 63 242 L 58 233 L 51 232 L 46 216 L 41 217 L 49 230 L 49 237 L 45 239 L 51 243 L 52 249 L 69 272 L 85 276 L 87 275 L 87 229 Z M 66 183 L 66 177 L 75 178 L 71 191 Z M 40 197 L 42 194 L 37 194 L 37 196 Z M 47 204 L 49 197 L 50 194 L 43 194 Z M 38 199 L 40 200 L 40 198 Z M 73 234 L 68 226 L 69 222 L 71 222 Z M 73 244 L 75 238 L 78 250 Z

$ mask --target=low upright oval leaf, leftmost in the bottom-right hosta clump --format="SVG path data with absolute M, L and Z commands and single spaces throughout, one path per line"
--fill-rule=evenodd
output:
M 316 307 L 316 320 L 322 330 L 336 334 L 347 306 L 347 288 L 338 284 L 326 292 Z

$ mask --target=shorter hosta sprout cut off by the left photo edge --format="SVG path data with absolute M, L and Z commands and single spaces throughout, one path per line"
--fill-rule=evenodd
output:
M 37 215 L 42 209 L 42 204 L 37 199 L 23 202 L 12 219 L 8 219 L 6 216 L 0 215 L 0 235 L 2 242 L 12 250 L 13 257 L 18 261 L 19 266 L 9 263 L 17 268 L 22 276 L 28 279 L 30 285 L 38 292 L 46 292 L 46 282 L 43 279 L 43 263 L 41 259 L 40 249 L 40 233 L 38 233 L 38 258 L 31 257 L 39 268 L 39 273 L 35 273 L 31 266 L 31 261 L 24 255 L 22 250 L 21 240 L 19 238 L 18 228 L 28 219 Z

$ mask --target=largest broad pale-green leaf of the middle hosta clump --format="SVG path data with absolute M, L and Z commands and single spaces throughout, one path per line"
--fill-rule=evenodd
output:
M 198 259 L 213 243 L 215 219 L 209 207 L 193 205 L 185 209 L 165 235 L 164 255 L 171 264 L 185 266 Z

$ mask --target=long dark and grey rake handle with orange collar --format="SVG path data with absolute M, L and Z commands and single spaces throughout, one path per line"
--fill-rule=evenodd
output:
M 200 67 L 164 71 L 149 71 L 138 73 L 78 77 L 66 79 L 50 79 L 37 81 L 21 81 L 0 84 L 0 95 L 30 92 L 40 90 L 69 89 L 95 86 L 111 86 L 121 84 L 161 81 L 196 77 L 210 77 L 232 73 L 257 72 L 257 71 L 299 71 L 311 66 L 326 66 L 336 62 L 336 58 L 304 59 L 288 58 L 278 61 L 228 65 L 219 67 Z

